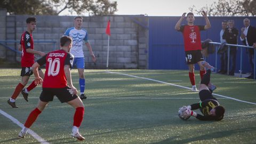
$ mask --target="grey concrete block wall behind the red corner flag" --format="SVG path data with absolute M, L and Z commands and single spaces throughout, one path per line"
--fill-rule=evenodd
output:
M 29 16 L 7 15 L 6 40 L 20 40 L 21 34 L 26 30 L 26 19 Z M 34 41 L 56 41 L 55 49 L 59 48 L 59 38 L 65 30 L 74 26 L 74 17 L 71 16 L 36 15 L 35 17 L 37 26 L 33 33 Z M 83 28 L 89 33 L 89 42 L 98 59 L 94 64 L 84 45 L 85 67 L 106 68 L 108 35 L 105 34 L 105 29 L 108 20 L 111 21 L 109 69 L 146 69 L 148 67 L 148 17 L 143 15 L 84 17 Z M 140 25 L 139 21 L 144 22 L 145 26 Z M 4 26 L 4 23 L 0 23 L 0 26 L 2 25 Z M 17 44 L 10 44 L 10 46 L 17 47 Z M 53 49 L 53 43 L 35 43 L 35 50 L 49 52 Z M 7 57 L 11 59 L 15 56 L 13 53 L 7 54 Z M 17 60 L 20 60 L 20 57 L 17 57 Z

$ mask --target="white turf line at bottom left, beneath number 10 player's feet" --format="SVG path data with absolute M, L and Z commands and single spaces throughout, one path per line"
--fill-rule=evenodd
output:
M 5 117 L 9 118 L 13 123 L 19 125 L 21 128 L 23 127 L 23 124 L 18 121 L 18 119 L 12 117 L 11 115 L 5 113 L 3 110 L 0 109 L 0 114 L 4 115 Z M 28 133 L 32 135 L 37 141 L 44 143 L 44 144 L 49 144 L 49 142 L 45 141 L 43 138 L 41 138 L 38 134 L 36 134 L 34 131 L 28 129 Z M 18 137 L 18 133 L 17 133 Z

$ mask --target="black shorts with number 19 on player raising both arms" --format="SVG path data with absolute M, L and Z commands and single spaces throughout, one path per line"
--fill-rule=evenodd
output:
M 185 54 L 187 64 L 195 64 L 198 61 L 204 61 L 204 57 L 203 54 L 201 53 L 201 50 L 186 51 Z

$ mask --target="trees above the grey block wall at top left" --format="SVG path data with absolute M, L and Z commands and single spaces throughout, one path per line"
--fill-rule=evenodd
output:
M 117 2 L 109 0 L 2 0 L 0 8 L 9 14 L 59 15 L 64 10 L 76 14 L 92 15 L 114 14 Z

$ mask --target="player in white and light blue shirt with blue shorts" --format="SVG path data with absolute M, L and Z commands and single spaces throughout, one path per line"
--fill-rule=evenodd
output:
M 68 28 L 65 32 L 66 36 L 70 36 L 73 38 L 73 46 L 70 51 L 71 54 L 74 55 L 74 65 L 76 65 L 79 75 L 79 86 L 80 86 L 80 98 L 86 99 L 84 94 L 85 89 L 85 79 L 84 79 L 84 52 L 83 52 L 83 41 L 87 46 L 87 49 L 90 52 L 93 62 L 96 61 L 96 58 L 93 54 L 91 44 L 88 40 L 88 33 L 85 29 L 82 29 L 83 25 L 83 17 L 75 17 L 74 19 L 75 27 Z M 73 65 L 73 66 L 74 66 Z

